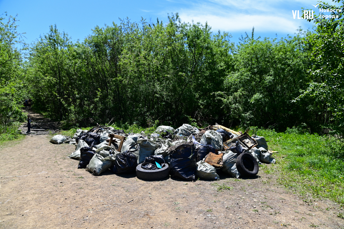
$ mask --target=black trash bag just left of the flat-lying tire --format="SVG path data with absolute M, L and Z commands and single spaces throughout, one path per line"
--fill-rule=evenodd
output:
M 117 158 L 114 161 L 114 166 L 111 167 L 111 171 L 118 173 L 132 173 L 135 172 L 137 167 L 137 157 L 129 151 L 125 151 L 117 154 Z

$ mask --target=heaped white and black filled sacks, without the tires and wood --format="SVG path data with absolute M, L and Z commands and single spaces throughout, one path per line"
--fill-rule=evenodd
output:
M 272 153 L 267 150 L 268 146 L 264 137 L 253 135 L 252 138 L 257 141 L 258 145 L 247 149 L 240 144 L 238 139 L 234 138 L 238 137 L 237 135 L 221 128 L 202 130 L 200 133 L 199 129 L 189 124 L 183 124 L 176 130 L 170 126 L 159 126 L 150 136 L 144 135 L 143 132 L 128 135 L 122 130 L 115 130 L 112 127 L 99 128 L 98 131 L 99 133 L 86 133 L 86 130 L 78 129 L 73 136 L 76 149 L 68 156 L 80 160 L 79 168 L 87 166 L 87 170 L 95 175 L 108 169 L 115 173 L 133 171 L 135 164 L 142 163 L 152 155 L 161 155 L 164 158 L 164 161 L 170 165 L 172 176 L 189 181 L 194 181 L 196 177 L 219 180 L 216 169 L 221 169 L 225 173 L 239 178 L 241 174 L 236 168 L 236 159 L 243 152 L 252 154 L 258 163 L 276 162 L 271 156 Z M 117 140 L 114 139 L 113 144 L 108 146 L 109 134 L 126 137 L 120 152 L 117 151 L 119 146 Z M 195 140 L 195 136 L 199 142 Z M 228 139 L 233 139 L 233 144 L 229 150 L 222 151 L 223 142 Z M 116 163 L 119 153 L 122 154 Z M 218 156 L 219 154 L 223 155 L 219 164 L 215 163 L 214 165 L 213 162 L 206 159 L 208 156 Z

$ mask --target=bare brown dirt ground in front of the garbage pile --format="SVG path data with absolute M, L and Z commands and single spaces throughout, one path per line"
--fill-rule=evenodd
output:
M 74 145 L 49 139 L 28 135 L 0 148 L 0 228 L 344 228 L 335 203 L 304 203 L 273 174 L 196 182 L 93 176 L 66 158 Z M 233 189 L 217 192 L 223 183 Z

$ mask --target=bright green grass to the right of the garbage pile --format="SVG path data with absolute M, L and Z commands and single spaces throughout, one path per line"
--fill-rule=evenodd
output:
M 329 198 L 344 204 L 344 141 L 329 136 L 300 133 L 287 129 L 284 133 L 253 128 L 264 136 L 276 164 L 260 165 L 264 173 L 278 175 L 278 182 L 305 201 Z M 268 181 L 266 181 L 268 182 Z

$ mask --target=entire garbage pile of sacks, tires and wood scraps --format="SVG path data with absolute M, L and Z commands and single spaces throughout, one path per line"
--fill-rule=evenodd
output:
M 125 140 L 121 142 L 116 135 Z M 115 138 L 110 140 L 109 136 Z M 76 145 L 68 157 L 79 160 L 78 169 L 97 176 L 104 172 L 136 172 L 138 178 L 145 180 L 168 175 L 187 181 L 219 180 L 219 170 L 240 178 L 255 176 L 260 163 L 276 163 L 264 137 L 249 136 L 218 124 L 204 129 L 189 124 L 177 129 L 159 126 L 151 135 L 96 126 L 91 130 L 77 129 L 73 138 L 55 135 L 50 142 Z

